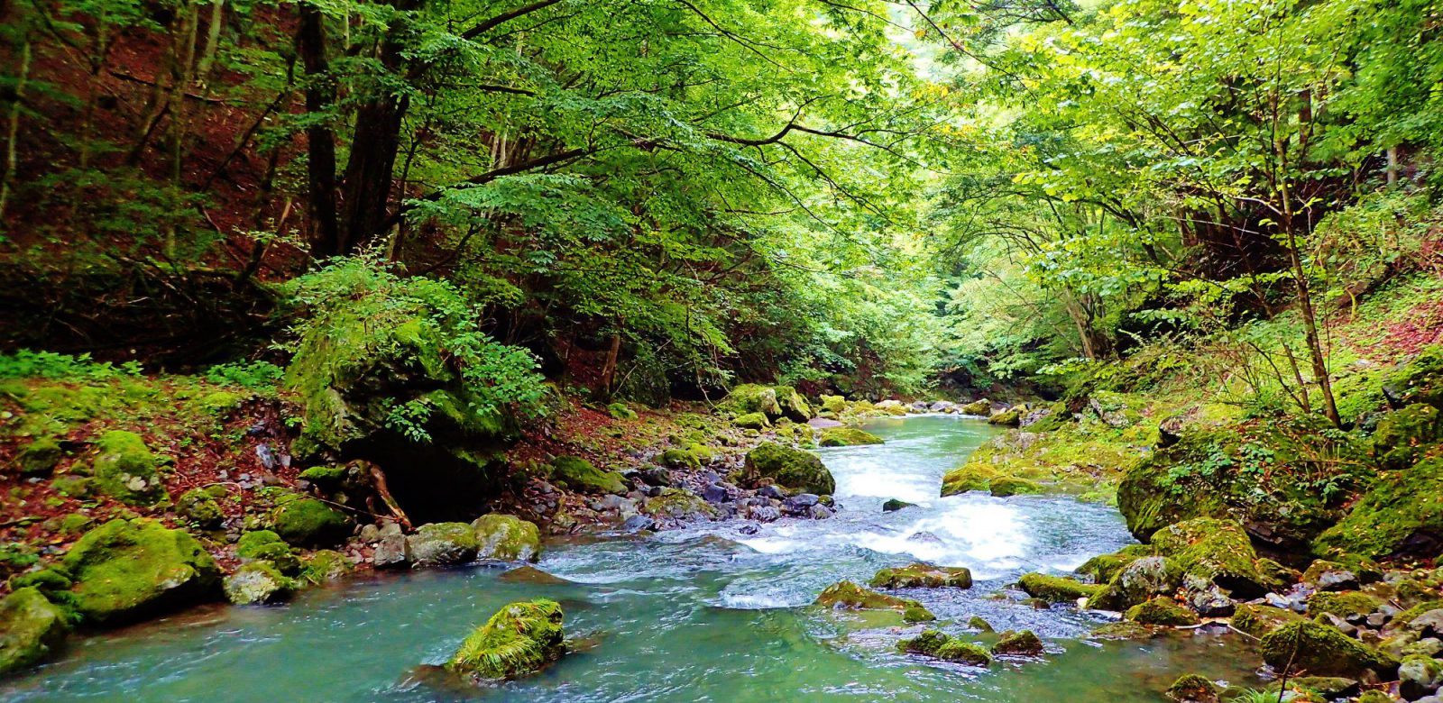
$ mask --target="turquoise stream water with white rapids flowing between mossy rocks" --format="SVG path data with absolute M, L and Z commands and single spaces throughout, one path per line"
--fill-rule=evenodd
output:
M 1180 673 L 1255 683 L 1254 653 L 1216 634 L 1143 642 L 1084 637 L 1101 615 L 1035 609 L 1006 585 L 1065 572 L 1130 543 L 1115 510 L 1065 497 L 938 498 L 942 473 L 991 435 L 986 424 L 916 416 L 870 426 L 877 447 L 821 449 L 841 506 L 742 534 L 713 523 L 646 537 L 548 545 L 538 565 L 567 583 L 522 583 L 478 566 L 356 578 L 271 608 L 206 608 L 72 644 L 0 686 L 3 700 L 496 702 L 1157 702 Z M 883 513 L 900 498 L 916 507 Z M 968 566 L 973 589 L 922 589 L 944 630 L 971 615 L 1030 628 L 1045 660 L 981 671 L 896 653 L 918 627 L 893 614 L 807 608 L 838 579 L 916 559 Z M 418 674 L 506 602 L 561 602 L 592 642 L 543 674 L 457 689 Z M 1224 645 L 1224 642 L 1227 642 Z

